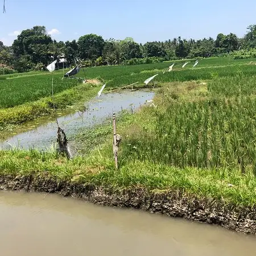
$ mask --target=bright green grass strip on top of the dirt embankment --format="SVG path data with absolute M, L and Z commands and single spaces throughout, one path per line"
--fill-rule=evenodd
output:
M 250 172 L 241 175 L 236 170 L 177 168 L 138 160 L 121 165 L 116 171 L 113 160 L 102 156 L 101 151 L 94 152 L 93 157 L 77 157 L 70 161 L 53 152 L 3 151 L 0 170 L 1 175 L 33 175 L 113 190 L 139 187 L 163 193 L 177 189 L 183 196 L 196 195 L 236 207 L 253 207 L 256 203 L 256 180 Z

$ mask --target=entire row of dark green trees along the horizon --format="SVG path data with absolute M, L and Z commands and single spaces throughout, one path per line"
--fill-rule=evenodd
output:
M 56 42 L 47 34 L 46 27 L 35 26 L 23 30 L 10 47 L 0 41 L 0 69 L 26 72 L 44 69 L 52 59 L 65 56 L 67 65 L 77 61 L 86 67 L 94 65 L 117 65 L 151 63 L 226 55 L 240 49 L 256 47 L 256 25 L 247 27 L 243 38 L 236 34 L 218 34 L 216 39 L 200 40 L 174 38 L 164 42 L 139 44 L 133 38 L 104 40 L 95 34 L 83 35 L 79 40 Z

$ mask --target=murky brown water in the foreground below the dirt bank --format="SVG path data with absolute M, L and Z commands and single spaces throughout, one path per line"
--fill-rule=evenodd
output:
M 57 195 L 0 192 L 3 256 L 253 256 L 256 238 Z

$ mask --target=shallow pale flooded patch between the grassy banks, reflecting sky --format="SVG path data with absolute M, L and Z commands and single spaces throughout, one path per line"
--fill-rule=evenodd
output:
M 83 127 L 92 127 L 104 122 L 106 118 L 111 118 L 113 112 L 118 113 L 125 109 L 134 111 L 153 96 L 154 93 L 143 90 L 102 94 L 100 98 L 94 98 L 87 103 L 84 112 L 77 111 L 60 116 L 58 123 L 68 136 L 72 136 Z M 42 118 L 40 122 L 30 122 L 24 127 L 18 134 L 7 135 L 2 142 L 0 138 L 0 148 L 10 148 L 12 145 L 25 149 L 46 149 L 56 142 L 57 126 L 52 117 Z

